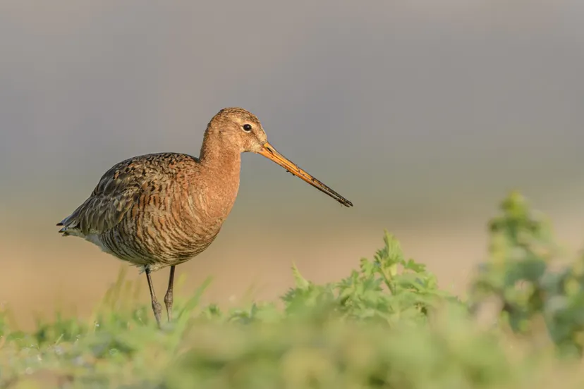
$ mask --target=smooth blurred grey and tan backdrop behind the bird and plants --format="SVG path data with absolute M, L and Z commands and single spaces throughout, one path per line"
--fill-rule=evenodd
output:
M 212 276 L 207 302 L 271 299 L 293 262 L 336 280 L 384 228 L 460 292 L 512 189 L 576 252 L 583 48 L 575 0 L 0 0 L 0 302 L 21 326 L 90 314 L 128 265 L 55 224 L 118 161 L 197 156 L 225 106 L 355 206 L 245 154 L 221 234 L 177 269 L 181 295 Z

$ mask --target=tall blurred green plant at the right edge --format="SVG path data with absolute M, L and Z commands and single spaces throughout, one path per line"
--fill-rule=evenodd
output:
M 562 265 L 549 222 L 516 192 L 501 203 L 501 215 L 489 227 L 489 260 L 471 285 L 472 309 L 495 298 L 501 321 L 515 333 L 536 340 L 544 323 L 561 354 L 581 355 L 584 258 Z

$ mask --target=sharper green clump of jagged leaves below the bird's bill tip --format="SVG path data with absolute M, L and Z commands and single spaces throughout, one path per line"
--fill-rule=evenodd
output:
M 293 267 L 296 288 L 284 295 L 286 314 L 305 313 L 317 307 L 337 318 L 380 321 L 389 326 L 400 321 L 425 323 L 427 314 L 446 294 L 432 273 L 413 259 L 406 261 L 399 242 L 385 233 L 385 247 L 373 261 L 361 259 L 359 270 L 337 283 L 315 285 Z

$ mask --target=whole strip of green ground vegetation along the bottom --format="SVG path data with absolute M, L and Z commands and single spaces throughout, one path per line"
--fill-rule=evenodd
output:
M 584 258 L 516 193 L 489 229 L 464 300 L 389 233 L 338 282 L 293 266 L 283 308 L 204 307 L 204 283 L 162 331 L 122 271 L 88 321 L 0 311 L 0 388 L 583 388 Z

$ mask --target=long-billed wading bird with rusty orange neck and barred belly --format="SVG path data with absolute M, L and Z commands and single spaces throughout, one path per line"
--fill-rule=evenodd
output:
M 171 322 L 175 268 L 207 249 L 219 234 L 238 195 L 244 152 L 260 154 L 343 206 L 353 206 L 269 144 L 253 113 L 231 107 L 207 124 L 198 157 L 160 152 L 116 163 L 90 197 L 56 226 L 63 236 L 81 237 L 138 266 L 146 274 L 154 318 L 162 328 L 162 305 L 151 275 L 170 266 L 164 304 Z

